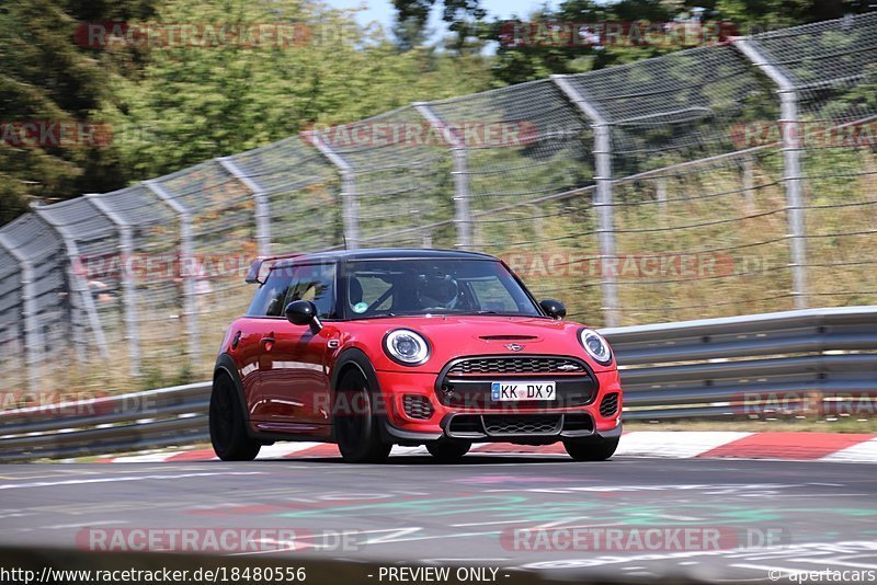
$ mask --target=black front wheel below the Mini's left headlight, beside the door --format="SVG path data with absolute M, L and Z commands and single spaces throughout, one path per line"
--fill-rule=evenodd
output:
M 341 377 L 332 416 L 341 458 L 348 463 L 381 463 L 392 445 L 380 437 L 379 418 L 374 412 L 374 393 L 358 370 Z

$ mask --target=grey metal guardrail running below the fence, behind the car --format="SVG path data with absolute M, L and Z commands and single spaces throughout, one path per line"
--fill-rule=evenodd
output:
M 604 329 L 626 420 L 830 414 L 877 404 L 877 306 Z M 0 461 L 207 439 L 210 383 L 0 412 Z

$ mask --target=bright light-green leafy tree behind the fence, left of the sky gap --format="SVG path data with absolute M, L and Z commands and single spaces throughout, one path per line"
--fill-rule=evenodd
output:
M 138 177 L 255 148 L 315 123 L 352 122 L 490 85 L 480 57 L 454 59 L 429 48 L 400 54 L 380 32 L 320 4 L 168 0 L 157 18 L 243 28 L 296 25 L 300 42 L 153 50 L 140 78 L 118 89 L 118 106 L 106 113 L 126 130 L 122 158 Z

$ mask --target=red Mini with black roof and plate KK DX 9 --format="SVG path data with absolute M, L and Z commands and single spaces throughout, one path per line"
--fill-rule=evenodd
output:
M 337 443 L 345 461 L 396 445 L 440 460 L 472 443 L 563 441 L 610 458 L 622 387 L 606 341 L 536 302 L 500 260 L 356 250 L 253 262 L 259 289 L 226 332 L 210 398 L 224 460 L 275 440 Z

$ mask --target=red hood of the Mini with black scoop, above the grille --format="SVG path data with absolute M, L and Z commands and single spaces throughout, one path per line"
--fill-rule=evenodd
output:
M 595 370 L 614 369 L 597 364 L 585 353 L 578 332 L 585 326 L 572 321 L 532 317 L 432 316 L 394 317 L 355 321 L 361 347 L 367 347 L 377 369 L 437 372 L 449 360 L 472 355 L 567 355 L 584 359 Z M 410 329 L 431 345 L 423 366 L 401 366 L 384 354 L 383 340 L 389 331 Z M 360 344 L 357 344 L 360 345 Z

